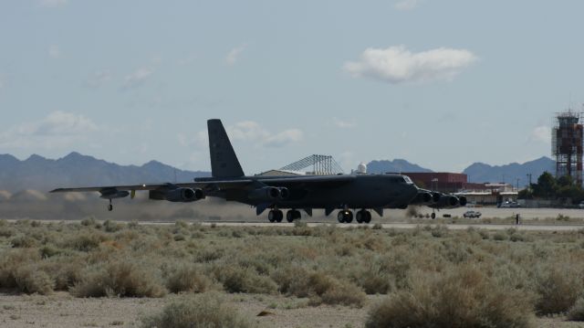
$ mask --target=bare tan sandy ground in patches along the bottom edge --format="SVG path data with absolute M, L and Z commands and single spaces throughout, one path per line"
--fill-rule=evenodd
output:
M 20 327 L 140 327 L 140 318 L 160 312 L 164 304 L 181 298 L 162 299 L 77 299 L 67 292 L 50 296 L 0 293 L 0 326 Z M 344 306 L 307 306 L 307 300 L 282 296 L 225 294 L 238 312 L 262 327 L 362 327 L 371 304 L 380 296 L 370 296 L 362 309 Z M 269 312 L 266 316 L 257 316 Z M 584 323 L 567 322 L 564 317 L 538 318 L 536 327 L 575 328 Z

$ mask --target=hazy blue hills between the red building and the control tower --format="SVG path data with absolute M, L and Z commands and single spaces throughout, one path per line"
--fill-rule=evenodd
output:
M 484 163 L 474 163 L 464 169 L 463 173 L 468 175 L 469 182 L 475 183 L 506 182 L 507 184 L 516 185 L 516 179 L 518 178 L 519 187 L 521 187 L 528 183 L 527 174 L 532 175 L 531 181 L 535 183 L 537 182 L 537 177 L 544 171 L 553 174 L 556 171 L 556 161 L 544 156 L 524 164 L 512 163 L 492 166 Z

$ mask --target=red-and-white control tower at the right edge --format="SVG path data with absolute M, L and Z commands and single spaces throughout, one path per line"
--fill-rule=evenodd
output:
M 556 158 L 556 177 L 569 175 L 582 185 L 582 113 L 558 112 L 551 132 L 551 153 Z

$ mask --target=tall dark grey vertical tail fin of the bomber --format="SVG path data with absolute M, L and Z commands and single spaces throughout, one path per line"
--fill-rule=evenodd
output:
M 207 121 L 209 132 L 209 153 L 211 155 L 211 175 L 213 177 L 244 176 L 244 170 L 237 160 L 234 147 L 227 137 L 221 120 Z

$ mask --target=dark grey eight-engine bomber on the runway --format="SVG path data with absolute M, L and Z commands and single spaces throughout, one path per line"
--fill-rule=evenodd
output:
M 257 216 L 269 209 L 270 222 L 281 222 L 283 209 L 286 219 L 292 222 L 301 217 L 300 210 L 312 217 L 315 208 L 324 209 L 328 217 L 339 210 L 340 223 L 353 221 L 369 223 L 370 210 L 380 217 L 385 208 L 406 208 L 426 205 L 433 208 L 464 206 L 464 196 L 452 196 L 418 188 L 406 175 L 351 174 L 351 175 L 244 175 L 241 164 L 220 120 L 207 121 L 211 177 L 195 178 L 190 183 L 110 185 L 78 188 L 58 188 L 58 192 L 99 192 L 101 198 L 110 200 L 130 196 L 136 191 L 148 191 L 149 198 L 170 202 L 190 203 L 206 196 L 255 206 Z M 434 213 L 433 213 L 434 217 Z

